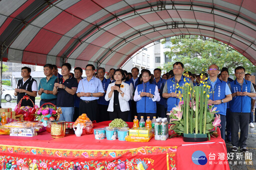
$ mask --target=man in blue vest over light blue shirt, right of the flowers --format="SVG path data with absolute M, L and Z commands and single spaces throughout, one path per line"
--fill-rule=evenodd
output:
M 216 107 L 220 115 L 220 135 L 225 140 L 225 124 L 226 124 L 226 103 L 232 100 L 231 92 L 225 81 L 219 80 L 217 75 L 219 73 L 218 66 L 212 64 L 208 67 L 209 78 L 204 81 L 205 84 L 210 85 L 209 105 Z

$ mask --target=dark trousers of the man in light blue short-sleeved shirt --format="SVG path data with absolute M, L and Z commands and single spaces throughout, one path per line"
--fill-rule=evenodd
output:
M 79 115 L 82 113 L 86 113 L 87 117 L 92 121 L 98 122 L 99 115 L 98 115 L 98 103 L 96 100 L 93 101 L 83 101 L 80 100 L 79 103 Z

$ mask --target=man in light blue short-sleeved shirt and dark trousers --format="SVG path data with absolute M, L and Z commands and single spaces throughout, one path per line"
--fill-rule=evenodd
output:
M 85 67 L 86 77 L 79 81 L 76 95 L 79 97 L 79 114 L 86 113 L 91 121 L 98 122 L 98 104 L 97 100 L 104 95 L 104 90 L 101 81 L 94 77 L 95 67 L 92 64 L 87 64 Z

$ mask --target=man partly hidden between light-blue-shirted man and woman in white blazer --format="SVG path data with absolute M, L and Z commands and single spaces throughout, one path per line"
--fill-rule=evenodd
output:
M 105 69 L 102 67 L 99 67 L 97 69 L 97 74 L 98 74 L 98 79 L 101 81 L 104 89 L 104 95 L 100 96 L 98 99 L 99 116 L 98 116 L 97 122 L 109 121 L 109 113 L 107 112 L 109 101 L 105 100 L 105 95 L 106 95 L 106 89 L 108 87 L 108 84 L 110 83 L 110 80 L 104 77 Z

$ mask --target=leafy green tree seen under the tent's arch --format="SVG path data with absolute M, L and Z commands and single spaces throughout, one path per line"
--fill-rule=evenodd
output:
M 216 64 L 219 69 L 227 67 L 229 74 L 234 68 L 243 66 L 246 73 L 255 72 L 255 66 L 232 47 L 212 38 L 194 36 L 195 38 L 170 39 L 170 51 L 164 54 L 171 57 L 172 62 L 165 63 L 163 69 L 169 71 L 176 61 L 184 64 L 185 71 L 198 74 L 205 72 L 209 65 Z M 165 41 L 162 41 L 165 43 Z

